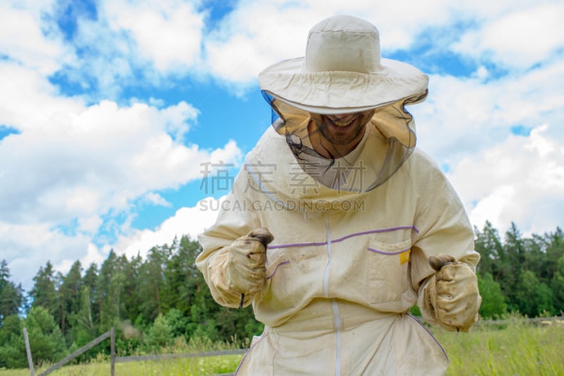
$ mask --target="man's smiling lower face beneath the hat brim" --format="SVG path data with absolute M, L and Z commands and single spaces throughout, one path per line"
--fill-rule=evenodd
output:
M 324 138 L 333 145 L 345 146 L 357 144 L 362 139 L 364 125 L 374 115 L 374 110 L 323 115 L 311 113 L 312 120 L 321 131 Z

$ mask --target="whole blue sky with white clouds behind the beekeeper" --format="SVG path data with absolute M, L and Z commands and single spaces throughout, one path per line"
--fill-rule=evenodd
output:
M 211 225 L 227 192 L 213 184 L 269 127 L 257 74 L 302 56 L 309 28 L 339 13 L 429 75 L 410 108 L 418 144 L 475 226 L 564 225 L 561 1 L 377 3 L 3 1 L 0 259 L 13 280 L 30 289 L 47 261 L 65 273 Z

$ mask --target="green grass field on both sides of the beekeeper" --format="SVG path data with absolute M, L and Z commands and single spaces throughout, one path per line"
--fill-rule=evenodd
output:
M 564 323 L 534 325 L 511 318 L 503 325 L 476 325 L 469 333 L 431 329 L 448 353 L 447 375 L 564 376 Z M 209 349 L 200 349 L 208 351 Z M 218 375 L 233 372 L 242 355 L 116 363 L 116 375 Z M 35 370 L 39 375 L 47 365 Z M 107 358 L 69 365 L 57 376 L 109 375 Z M 0 376 L 30 375 L 29 370 L 0 370 Z

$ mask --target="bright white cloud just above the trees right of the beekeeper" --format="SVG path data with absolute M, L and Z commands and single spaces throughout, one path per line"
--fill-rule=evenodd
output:
M 564 147 L 546 137 L 547 129 L 508 137 L 453 166 L 449 177 L 478 228 L 489 220 L 503 234 L 514 222 L 530 235 L 562 225 Z

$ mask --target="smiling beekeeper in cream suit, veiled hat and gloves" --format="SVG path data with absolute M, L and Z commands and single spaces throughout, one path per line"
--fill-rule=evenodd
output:
M 479 254 L 446 177 L 415 148 L 405 106 L 428 77 L 381 58 L 348 15 L 305 57 L 259 74 L 273 123 L 248 153 L 197 267 L 214 299 L 252 304 L 264 332 L 238 375 L 440 375 L 448 357 L 409 311 L 467 332 Z

